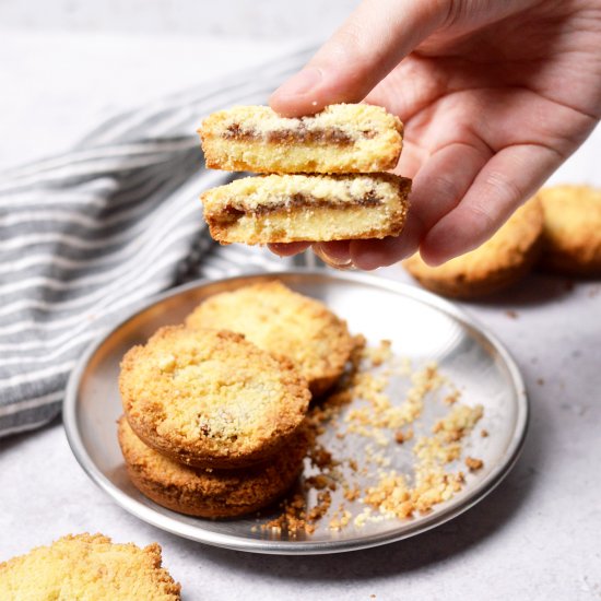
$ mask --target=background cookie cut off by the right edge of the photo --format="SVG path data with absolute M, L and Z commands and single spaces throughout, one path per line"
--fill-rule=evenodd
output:
M 540 264 L 565 275 L 601 275 L 601 190 L 554 186 L 539 197 L 544 212 Z

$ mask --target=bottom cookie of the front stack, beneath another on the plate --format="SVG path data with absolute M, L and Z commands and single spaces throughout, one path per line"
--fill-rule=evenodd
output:
M 272 459 L 240 470 L 191 468 L 151 449 L 119 420 L 119 444 L 135 487 L 162 505 L 205 518 L 232 518 L 257 511 L 281 497 L 296 481 L 307 452 L 307 434 L 299 428 Z

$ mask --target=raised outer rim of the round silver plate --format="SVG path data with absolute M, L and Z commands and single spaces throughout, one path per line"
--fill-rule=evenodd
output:
M 311 542 L 310 540 L 273 541 L 266 539 L 244 539 L 223 532 L 198 529 L 198 527 L 179 522 L 170 516 L 160 514 L 152 507 L 144 505 L 121 491 L 96 467 L 95 462 L 86 451 L 78 427 L 78 392 L 83 373 L 90 363 L 90 360 L 95 355 L 99 346 L 102 346 L 106 340 L 114 335 L 115 332 L 122 328 L 128 321 L 134 319 L 138 315 L 153 305 L 190 290 L 232 282 L 235 280 L 249 280 L 256 278 L 279 279 L 282 276 L 298 275 L 317 275 L 330 280 L 362 283 L 410 297 L 413 300 L 417 300 L 434 307 L 435 309 L 441 310 L 443 313 L 452 316 L 455 319 L 458 319 L 463 325 L 469 326 L 471 329 L 475 329 L 498 353 L 498 356 L 502 358 L 503 364 L 509 374 L 510 381 L 516 393 L 516 427 L 512 432 L 509 445 L 507 446 L 507 450 L 502 456 L 499 463 L 480 483 L 478 483 L 478 485 L 471 491 L 470 496 L 463 499 L 462 503 L 458 503 L 455 506 L 451 505 L 440 511 L 434 511 L 431 516 L 426 517 L 425 520 L 415 523 L 413 528 L 405 528 L 402 532 L 396 532 L 392 530 L 390 532 L 373 534 L 370 537 L 364 537 L 356 540 Z M 474 318 L 463 308 L 456 306 L 449 300 L 417 288 L 411 284 L 398 282 L 382 275 L 367 274 L 363 272 L 332 272 L 323 268 L 293 268 L 273 272 L 257 270 L 217 280 L 203 278 L 174 288 L 169 288 L 166 292 L 153 295 L 145 300 L 137 303 L 119 321 L 93 340 L 82 353 L 69 376 L 64 399 L 62 402 L 64 432 L 71 451 L 73 452 L 76 461 L 92 482 L 108 494 L 122 509 L 142 521 L 154 526 L 155 528 L 165 530 L 172 534 L 177 534 L 188 540 L 235 551 L 273 555 L 317 555 L 358 551 L 414 537 L 427 530 L 432 530 L 433 528 L 437 528 L 438 526 L 441 526 L 443 523 L 458 517 L 488 495 L 514 468 L 523 448 L 530 422 L 530 401 L 527 394 L 526 385 L 516 361 L 500 340 L 492 333 L 487 327 L 482 325 L 478 318 Z

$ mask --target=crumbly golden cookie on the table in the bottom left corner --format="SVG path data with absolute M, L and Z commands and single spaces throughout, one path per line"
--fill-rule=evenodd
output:
M 69 534 L 0 564 L 2 601 L 178 601 L 180 586 L 161 567 L 161 546 Z

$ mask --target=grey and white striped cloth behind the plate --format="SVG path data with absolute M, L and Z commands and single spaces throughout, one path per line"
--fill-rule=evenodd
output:
M 282 269 L 264 249 L 215 245 L 199 193 L 196 127 L 264 104 L 310 50 L 120 114 L 72 152 L 0 177 L 0 436 L 60 412 L 84 347 L 144 298 L 193 278 Z

